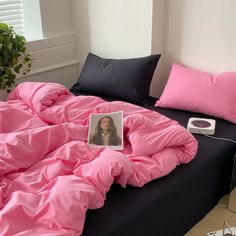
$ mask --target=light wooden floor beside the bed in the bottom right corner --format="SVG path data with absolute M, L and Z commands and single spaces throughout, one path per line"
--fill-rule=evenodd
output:
M 224 196 L 219 204 L 185 234 L 185 236 L 206 236 L 208 232 L 222 229 L 224 221 L 230 227 L 236 227 L 236 213 L 228 210 L 227 202 L 228 196 Z

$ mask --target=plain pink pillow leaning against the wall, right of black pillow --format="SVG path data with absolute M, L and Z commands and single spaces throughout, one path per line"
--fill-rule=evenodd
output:
M 236 123 L 236 72 L 211 75 L 174 63 L 156 106 L 199 112 Z

